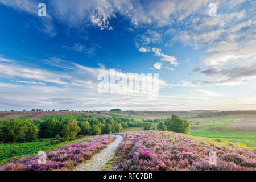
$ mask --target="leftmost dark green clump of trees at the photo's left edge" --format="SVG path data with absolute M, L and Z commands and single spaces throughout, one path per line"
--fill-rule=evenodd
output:
M 12 118 L 0 121 L 2 142 L 31 142 L 36 139 L 38 127 L 28 119 Z

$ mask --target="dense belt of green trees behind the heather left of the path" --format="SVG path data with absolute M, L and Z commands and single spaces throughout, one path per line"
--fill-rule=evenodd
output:
M 46 118 L 44 120 L 12 118 L 0 121 L 1 142 L 31 142 L 37 138 L 60 136 L 65 140 L 76 139 L 77 135 L 100 135 L 123 131 L 121 122 L 127 119 L 97 118 L 84 114 L 72 118 Z M 127 121 L 126 121 L 127 122 Z

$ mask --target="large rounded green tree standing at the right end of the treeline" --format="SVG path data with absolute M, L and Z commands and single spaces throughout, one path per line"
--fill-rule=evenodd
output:
M 172 115 L 171 121 L 171 131 L 184 134 L 189 133 L 191 124 L 187 121 L 187 119 L 182 119 L 178 115 Z

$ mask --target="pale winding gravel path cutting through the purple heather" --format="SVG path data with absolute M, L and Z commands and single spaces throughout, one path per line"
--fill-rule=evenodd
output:
M 77 171 L 101 171 L 102 166 L 109 162 L 115 155 L 118 144 L 122 141 L 121 135 L 116 135 L 114 142 L 104 148 L 100 153 L 95 154 L 91 160 L 76 167 Z

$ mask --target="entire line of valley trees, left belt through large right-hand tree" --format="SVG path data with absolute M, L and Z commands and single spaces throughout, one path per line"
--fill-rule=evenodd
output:
M 0 121 L 1 142 L 31 142 L 37 138 L 60 136 L 73 140 L 77 135 L 100 135 L 120 133 L 126 127 L 143 127 L 144 130 L 156 130 L 150 121 L 117 117 L 94 117 L 82 113 L 73 114 L 71 118 L 45 118 L 44 120 L 12 118 Z M 158 130 L 189 133 L 190 123 L 177 115 L 158 122 Z

